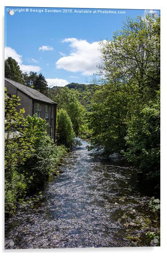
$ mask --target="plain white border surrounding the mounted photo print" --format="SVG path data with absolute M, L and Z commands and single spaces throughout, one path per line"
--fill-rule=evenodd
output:
M 119 0 L 119 1 L 109 1 L 109 0 L 84 0 L 82 2 L 79 2 L 79 0 L 59 0 L 59 1 L 53 1 L 53 0 L 1 0 L 0 2 L 0 19 L 1 19 L 1 40 L 0 40 L 0 55 L 1 55 L 1 61 L 0 61 L 0 71 L 1 71 L 1 86 L 0 86 L 0 115 L 1 115 L 1 135 L 3 135 L 3 86 L 4 86 L 4 7 L 5 6 L 32 6 L 32 7 L 82 7 L 82 8 L 115 8 L 115 9 L 150 9 L 150 10 L 161 10 L 161 247 L 131 247 L 131 248 L 99 248 L 99 249 L 31 249 L 31 250 L 4 250 L 4 223 L 3 223 L 3 217 L 4 217 L 4 209 L 1 207 L 1 236 L 0 236 L 0 248 L 1 252 L 5 253 L 6 255 L 10 255 L 12 253 L 25 253 L 25 254 L 48 254 L 48 253 L 55 253 L 56 255 L 91 255 L 91 254 L 106 254 L 107 255 L 123 255 L 123 256 L 129 256 L 129 255 L 150 255 L 150 256 L 157 256 L 157 254 L 163 254 L 166 250 L 166 241 L 167 241 L 167 209 L 166 206 L 166 190 L 165 187 L 167 187 L 167 170 L 166 168 L 166 148 L 167 148 L 167 54 L 166 54 L 166 44 L 167 44 L 167 38 L 166 38 L 166 24 L 167 24 L 167 6 L 165 1 L 159 0 L 139 0 L 137 1 L 130 1 L 130 0 Z M 1 188 L 3 187 L 3 136 L 0 136 L 0 145 L 1 145 Z M 3 190 L 1 190 L 1 206 L 3 206 Z

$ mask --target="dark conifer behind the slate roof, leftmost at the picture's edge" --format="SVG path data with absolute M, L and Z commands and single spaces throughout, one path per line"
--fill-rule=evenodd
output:
M 18 83 L 24 83 L 20 66 L 12 57 L 8 57 L 5 60 L 5 77 Z

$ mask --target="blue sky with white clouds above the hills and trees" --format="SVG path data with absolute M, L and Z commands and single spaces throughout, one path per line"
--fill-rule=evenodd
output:
M 145 12 L 159 15 L 158 10 L 5 7 L 5 59 L 14 58 L 23 72 L 41 72 L 49 87 L 89 84 L 101 64 L 99 42 L 111 40 L 127 17 Z

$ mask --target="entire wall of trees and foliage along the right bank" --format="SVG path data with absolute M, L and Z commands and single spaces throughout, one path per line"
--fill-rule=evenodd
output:
M 91 148 L 122 152 L 143 171 L 160 175 L 160 18 L 128 18 L 101 42 L 103 83 L 93 95 Z

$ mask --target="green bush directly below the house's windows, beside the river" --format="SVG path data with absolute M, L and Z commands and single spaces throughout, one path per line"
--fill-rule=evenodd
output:
M 34 192 L 44 185 L 50 173 L 56 169 L 56 146 L 53 140 L 47 135 L 48 124 L 42 118 L 36 115 L 27 116 L 27 127 L 22 140 L 29 140 L 34 152 L 26 159 L 23 165 L 20 165 L 20 172 L 26 179 L 30 180 L 28 192 Z

